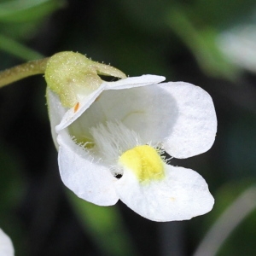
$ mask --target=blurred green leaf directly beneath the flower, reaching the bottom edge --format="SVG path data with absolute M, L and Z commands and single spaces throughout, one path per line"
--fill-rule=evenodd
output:
M 99 207 L 67 193 L 74 211 L 103 255 L 137 255 L 118 207 Z

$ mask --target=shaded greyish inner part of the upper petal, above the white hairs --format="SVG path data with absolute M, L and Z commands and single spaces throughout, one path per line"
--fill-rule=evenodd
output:
M 142 143 L 158 145 L 170 136 L 176 115 L 176 101 L 172 96 L 156 84 L 150 84 L 124 90 L 104 90 L 81 116 L 79 125 L 85 133 L 99 123 L 119 121 L 135 131 Z M 86 134 L 88 136 L 88 132 Z

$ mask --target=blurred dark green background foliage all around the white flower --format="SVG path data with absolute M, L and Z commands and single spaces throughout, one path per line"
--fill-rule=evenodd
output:
M 207 230 L 255 181 L 256 76 L 244 59 L 236 55 L 234 61 L 235 53 L 225 55 L 218 44 L 219 37 L 239 26 L 241 33 L 233 41 L 244 37 L 256 51 L 255 39 L 243 33 L 245 24 L 255 27 L 255 21 L 253 0 L 0 1 L 1 68 L 61 50 L 79 51 L 95 61 L 111 61 L 130 76 L 154 73 L 198 84 L 210 93 L 218 114 L 212 149 L 171 161 L 206 178 L 215 207 L 183 224 L 157 224 L 122 204 L 95 207 L 67 196 L 50 137 L 44 79 L 38 76 L 3 88 L 0 226 L 13 238 L 17 255 L 195 252 Z M 239 44 L 240 56 L 247 48 Z M 245 61 L 254 60 L 249 55 Z M 256 254 L 254 222 L 255 211 L 228 236 L 218 254 Z M 170 239 L 164 244 L 162 237 Z

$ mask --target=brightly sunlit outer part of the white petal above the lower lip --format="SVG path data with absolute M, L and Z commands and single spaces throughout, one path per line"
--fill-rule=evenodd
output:
M 187 158 L 212 147 L 217 118 L 212 97 L 194 84 L 183 82 L 157 84 L 175 100 L 177 119 L 163 148 L 176 158 Z

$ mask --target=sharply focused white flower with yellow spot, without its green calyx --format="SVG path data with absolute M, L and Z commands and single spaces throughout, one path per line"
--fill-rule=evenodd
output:
M 166 164 L 206 152 L 217 120 L 205 90 L 164 77 L 103 82 L 73 108 L 48 88 L 49 118 L 61 179 L 80 198 L 100 206 L 119 199 L 155 221 L 193 218 L 214 199 L 197 172 Z

